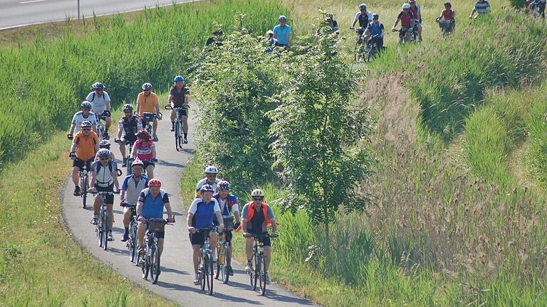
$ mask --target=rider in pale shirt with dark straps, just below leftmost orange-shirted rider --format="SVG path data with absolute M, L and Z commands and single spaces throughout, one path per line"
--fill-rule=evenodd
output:
M 114 193 L 114 186 L 116 190 L 120 191 L 120 183 L 118 183 L 118 164 L 115 161 L 110 160 L 110 151 L 108 149 L 101 149 L 99 152 L 99 161 L 96 161 L 91 166 L 91 180 L 88 191 L 90 193 L 97 192 L 111 192 Z M 97 224 L 99 217 L 100 203 L 103 201 L 100 195 L 95 196 L 95 203 L 93 203 L 93 225 Z M 114 222 L 114 195 L 106 195 L 106 210 L 108 211 L 108 241 L 113 241 L 112 225 Z

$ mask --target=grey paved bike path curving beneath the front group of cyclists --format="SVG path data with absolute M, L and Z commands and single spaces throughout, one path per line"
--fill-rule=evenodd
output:
M 162 113 L 164 113 L 164 119 L 159 122 L 157 133 L 160 141 L 156 143 L 159 161 L 156 163 L 155 177 L 160 178 L 162 188 L 170 193 L 170 203 L 177 222 L 172 226 L 165 226 L 165 249 L 161 258 L 161 274 L 157 284 L 152 285 L 150 281 L 142 279 L 140 267 L 129 261 L 125 242 L 120 241 L 123 235 L 123 208 L 119 206 L 120 196 L 115 195 L 114 198 L 115 241 L 108 242 L 108 250 L 104 251 L 98 246 L 94 226 L 90 224 L 93 210 L 89 209 L 89 205 L 87 210 L 83 210 L 81 198 L 72 195 L 74 187 L 71 178 L 68 178 L 62 193 L 63 217 L 75 239 L 93 256 L 105 264 L 110 264 L 131 281 L 184 306 L 215 306 L 212 304 L 219 303 L 222 304 L 221 306 L 315 306 L 313 302 L 299 298 L 276 284 L 266 288 L 266 296 L 260 296 L 259 292 L 251 291 L 248 275 L 237 264 L 234 264 L 234 276 L 230 276 L 229 284 L 225 285 L 221 281 L 214 280 L 213 296 L 208 296 L 199 289 L 199 286 L 194 286 L 192 251 L 184 210 L 189 207 L 191 200 L 184 200 L 182 203 L 179 181 L 182 171 L 193 156 L 192 132 L 195 119 L 189 120 L 189 144 L 186 144 L 184 151 L 177 152 L 174 149 L 173 133 L 169 131 L 169 111 L 163 110 Z M 113 132 L 110 131 L 110 134 Z M 113 149 L 116 157 L 120 158 L 120 151 L 116 144 Z M 125 177 L 125 170 L 122 177 Z M 120 178 L 120 185 L 121 183 Z

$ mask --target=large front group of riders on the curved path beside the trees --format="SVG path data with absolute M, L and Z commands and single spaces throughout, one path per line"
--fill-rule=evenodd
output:
M 145 252 L 144 238 L 147 231 L 147 221 L 149 219 L 163 218 L 164 209 L 167 212 L 166 222 L 174 222 L 169 196 L 163 190 L 162 182 L 154 178 L 153 171 L 155 161 L 157 161 L 157 151 L 155 142 L 158 141 L 157 118 L 145 117 L 145 114 L 158 114 L 160 112 L 157 95 L 152 92 L 152 85 L 145 83 L 142 85 L 142 92 L 137 97 L 137 110 L 134 113 L 132 104 L 123 105 L 123 117 L 118 121 L 118 134 L 115 141 L 120 145 L 120 154 L 122 156 L 123 166 L 132 160 L 130 165 L 130 174 L 127 174 L 120 186 L 118 180 L 118 163 L 115 160 L 113 151 L 110 150 L 110 141 L 108 141 L 108 122 L 102 134 L 97 133 L 97 127 L 100 124 L 101 117 L 110 119 L 110 97 L 104 91 L 102 83 L 93 84 L 94 92 L 80 104 L 80 111 L 74 114 L 71 129 L 68 133 L 68 139 L 72 140 L 71 158 L 73 159 L 72 178 L 75 185 L 73 195 L 79 196 L 80 193 L 97 193 L 93 203 L 93 218 L 91 223 L 96 225 L 98 222 L 99 211 L 103 197 L 98 192 L 108 192 L 105 199 L 106 210 L 108 212 L 108 241 L 112 241 L 113 234 L 113 204 L 114 194 L 120 193 L 120 205 L 123 210 L 124 234 L 121 239 L 126 242 L 129 239 L 129 228 L 132 216 L 136 215 L 137 226 L 137 245 L 138 253 Z M 94 94 L 94 95 L 93 95 Z M 170 89 L 170 96 L 167 99 L 167 105 L 173 109 L 171 114 L 171 131 L 173 131 L 173 122 L 180 112 L 179 118 L 182 119 L 184 142 L 187 143 L 188 134 L 188 109 L 189 109 L 189 90 L 187 89 L 184 77 L 174 77 L 173 85 Z M 106 116 L 108 115 L 108 117 Z M 153 121 L 153 122 L 152 122 Z M 148 133 L 144 127 L 147 122 L 152 122 L 152 134 Z M 131 146 L 131 154 L 126 156 L 125 146 Z M 80 187 L 79 174 L 81 171 L 90 171 L 90 181 L 88 186 Z M 212 247 L 217 246 L 219 234 L 224 232 L 224 218 L 233 217 L 234 230 L 242 231 L 246 239 L 246 257 L 248 263 L 246 270 L 252 269 L 251 253 L 254 239 L 252 235 L 264 235 L 267 233 L 267 227 L 272 228 L 271 237 L 277 237 L 278 223 L 273 216 L 271 208 L 264 203 L 264 193 L 256 189 L 251 192 L 251 202 L 244 205 L 239 213 L 239 202 L 236 195 L 230 193 L 230 184 L 228 181 L 217 179 L 219 173 L 215 166 L 205 168 L 205 178 L 196 185 L 195 199 L 189 206 L 187 215 L 187 227 L 189 239 L 192 243 L 194 259 L 194 284 L 199 284 L 198 262 L 199 252 L 204 244 L 207 235 Z M 149 179 L 151 178 L 151 179 Z M 233 221 L 232 221 L 233 222 Z M 213 230 L 204 234 L 197 230 L 214 227 Z M 231 244 L 231 231 L 224 232 L 226 241 Z M 163 242 L 165 232 L 157 232 L 157 245 L 160 254 L 163 251 Z M 260 242 L 264 244 L 264 254 L 266 268 L 271 259 L 271 240 L 270 237 L 261 237 Z M 231 249 L 229 249 L 231 254 Z M 212 249 L 214 262 L 217 261 L 216 249 Z M 231 256 L 231 255 L 230 255 Z M 231 259 L 231 257 L 229 257 Z M 233 275 L 231 264 L 227 265 L 227 273 Z M 269 281 L 268 271 L 264 272 L 266 281 Z

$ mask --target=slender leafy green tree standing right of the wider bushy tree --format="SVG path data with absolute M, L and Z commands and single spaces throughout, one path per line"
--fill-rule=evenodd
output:
M 335 55 L 333 35 L 317 35 L 286 65 L 289 86 L 269 113 L 276 156 L 289 193 L 284 206 L 306 208 L 316 222 L 333 222 L 340 205 L 363 209 L 353 195 L 368 175 L 368 109 L 350 105 L 355 82 L 348 65 Z M 345 197 L 350 193 L 350 197 Z

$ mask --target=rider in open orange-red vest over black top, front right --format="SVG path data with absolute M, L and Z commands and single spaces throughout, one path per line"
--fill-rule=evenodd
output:
M 245 239 L 245 254 L 247 256 L 246 271 L 251 271 L 253 268 L 253 242 L 252 235 L 265 235 L 268 233 L 267 227 L 271 227 L 271 237 L 278 237 L 277 225 L 273 211 L 264 203 L 264 192 L 260 189 L 255 189 L 251 192 L 251 198 L 253 200 L 244 205 L 241 212 L 241 229 L 243 229 L 243 235 Z M 271 259 L 271 239 L 269 237 L 259 238 L 260 242 L 264 244 L 264 262 L 266 271 L 264 276 L 266 281 L 269 282 L 268 268 Z

